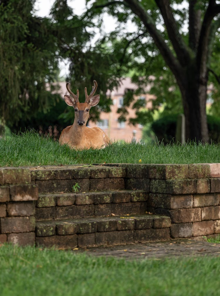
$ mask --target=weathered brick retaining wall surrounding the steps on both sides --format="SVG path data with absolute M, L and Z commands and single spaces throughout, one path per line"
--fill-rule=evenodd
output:
M 54 202 L 38 199 L 38 193 L 71 192 L 75 183 L 81 192 L 144 190 L 147 211 L 171 218 L 171 238 L 220 233 L 218 163 L 42 166 L 0 168 L 0 242 L 35 244 L 35 218 L 50 208 L 43 203 Z

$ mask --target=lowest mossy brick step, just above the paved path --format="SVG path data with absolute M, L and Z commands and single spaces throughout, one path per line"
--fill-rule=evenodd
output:
M 120 215 L 36 222 L 43 247 L 84 248 L 170 239 L 171 220 L 158 215 Z

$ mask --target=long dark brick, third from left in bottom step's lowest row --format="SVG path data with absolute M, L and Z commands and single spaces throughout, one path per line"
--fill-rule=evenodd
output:
M 129 244 L 134 241 L 133 230 L 96 232 L 96 245 Z

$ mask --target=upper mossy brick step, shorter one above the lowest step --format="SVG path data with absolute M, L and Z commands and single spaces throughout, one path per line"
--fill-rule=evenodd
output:
M 144 214 L 147 198 L 143 190 L 39 194 L 35 217 L 40 221 Z

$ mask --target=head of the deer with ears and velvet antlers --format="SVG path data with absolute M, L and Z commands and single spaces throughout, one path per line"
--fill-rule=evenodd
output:
M 100 95 L 97 94 L 94 96 L 97 89 L 97 82 L 93 80 L 94 86 L 92 86 L 92 91 L 90 95 L 87 94 L 87 88 L 85 87 L 85 103 L 79 102 L 79 90 L 77 89 L 76 95 L 70 90 L 70 83 L 67 82 L 66 87 L 69 92 L 69 95 L 64 95 L 64 100 L 67 105 L 72 106 L 75 109 L 75 120 L 74 123 L 77 123 L 79 126 L 86 125 L 89 118 L 89 110 L 91 107 L 94 107 L 98 104 Z

